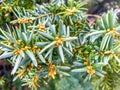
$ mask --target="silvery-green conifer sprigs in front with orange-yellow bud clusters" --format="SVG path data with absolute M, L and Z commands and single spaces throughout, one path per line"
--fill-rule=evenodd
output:
M 88 82 L 107 75 L 104 68 L 110 60 L 120 64 L 117 13 L 111 9 L 91 25 L 85 5 L 53 0 L 35 5 L 34 10 L 12 8 L 14 26 L 0 28 L 0 59 L 12 64 L 14 81 L 20 79 L 23 85 L 37 90 L 77 73 L 78 79 Z

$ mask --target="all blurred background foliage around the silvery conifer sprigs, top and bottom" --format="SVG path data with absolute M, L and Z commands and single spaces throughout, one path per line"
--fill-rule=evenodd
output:
M 77 0 L 76 0 L 77 1 Z M 95 15 L 101 15 L 107 10 L 114 8 L 118 10 L 118 17 L 120 17 L 120 0 L 81 0 L 86 1 L 88 5 L 88 21 L 94 22 L 96 18 Z M 35 7 L 35 3 L 43 4 L 49 3 L 50 0 L 0 0 L 0 27 L 4 28 L 7 24 L 10 24 L 10 21 L 15 18 L 12 13 L 12 7 L 24 7 L 25 9 L 33 9 Z M 67 4 L 67 0 L 65 0 Z M 120 21 L 120 19 L 118 19 Z M 120 90 L 120 65 L 116 63 L 116 61 L 110 61 L 111 66 L 104 67 L 104 70 L 108 73 L 105 77 L 101 78 L 98 82 L 99 77 L 95 77 L 97 79 L 92 81 L 94 85 L 93 90 Z M 113 67 L 111 71 L 110 68 Z M 26 87 L 21 87 L 21 82 L 18 80 L 16 82 L 12 82 L 13 77 L 10 75 L 11 66 L 5 61 L 0 61 L 0 88 L 2 90 L 28 90 Z M 79 75 L 80 76 L 80 75 Z M 50 81 L 49 86 L 47 86 L 47 90 L 92 90 L 92 84 L 90 82 L 82 83 L 83 80 L 78 80 L 78 75 L 75 73 L 71 77 L 65 77 L 63 79 L 57 79 L 54 81 Z M 52 83 L 51 83 L 52 82 Z M 54 84 L 54 82 L 58 82 Z M 69 82 L 69 83 L 68 83 Z M 102 85 L 106 85 L 106 88 L 109 89 L 101 89 Z M 84 87 L 88 85 L 89 88 Z M 51 88 L 52 87 L 52 88 Z M 67 89 L 66 89 L 67 88 Z M 81 89 L 80 89 L 81 88 Z M 0 89 L 0 90 L 1 90 Z M 41 87 L 40 90 L 46 90 Z

